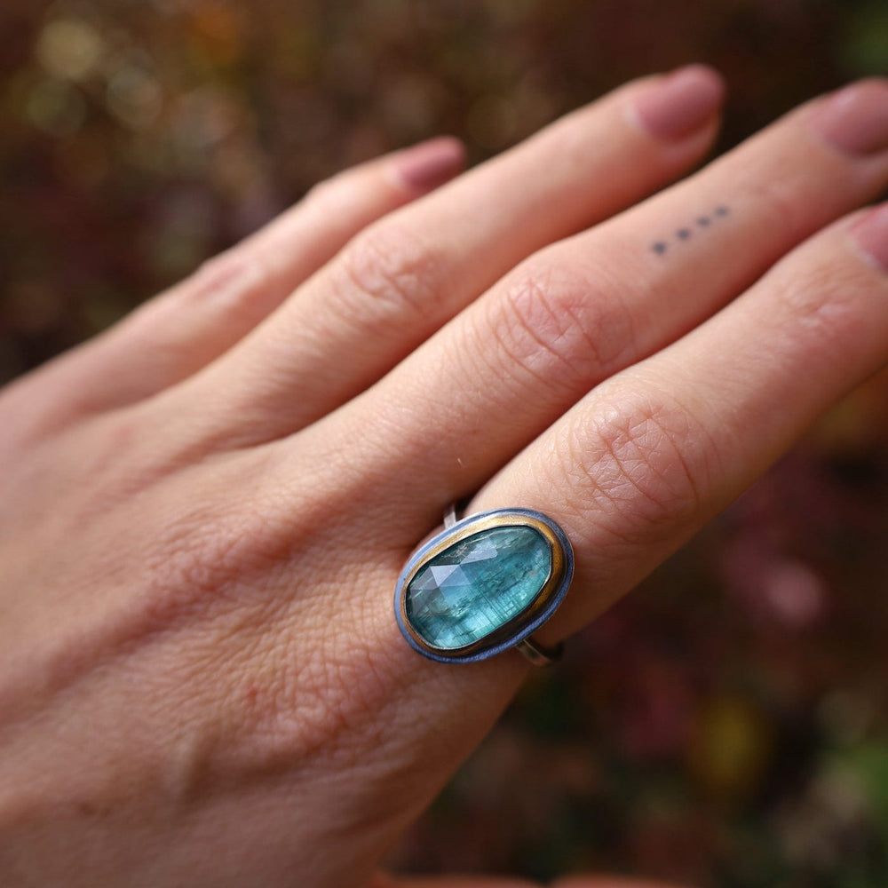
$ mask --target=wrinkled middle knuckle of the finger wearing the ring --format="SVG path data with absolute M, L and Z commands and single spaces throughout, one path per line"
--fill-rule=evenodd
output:
M 692 413 L 661 392 L 619 392 L 607 409 L 567 430 L 567 471 L 582 483 L 570 507 L 593 511 L 630 543 L 649 543 L 692 525 L 718 458 Z M 591 496 L 589 492 L 591 491 Z

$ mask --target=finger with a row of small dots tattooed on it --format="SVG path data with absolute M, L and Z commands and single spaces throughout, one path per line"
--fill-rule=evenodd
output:
M 804 107 L 694 178 L 543 250 L 306 434 L 318 446 L 366 440 L 377 463 L 394 441 L 405 527 L 427 523 L 593 386 L 694 328 L 806 234 L 884 187 L 888 139 L 875 150 L 828 141 L 836 103 L 846 136 L 848 108 L 870 122 L 874 106 L 888 105 L 888 84 Z M 706 225 L 695 224 L 702 213 Z M 674 237 L 667 255 L 652 248 L 685 224 L 693 237 Z M 421 472 L 403 472 L 405 453 Z

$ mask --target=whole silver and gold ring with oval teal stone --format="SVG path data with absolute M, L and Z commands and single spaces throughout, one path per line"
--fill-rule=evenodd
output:
M 531 635 L 567 595 L 574 551 L 565 532 L 530 509 L 456 519 L 408 559 L 395 589 L 398 627 L 437 662 L 478 662 L 514 647 L 536 666 L 558 660 Z

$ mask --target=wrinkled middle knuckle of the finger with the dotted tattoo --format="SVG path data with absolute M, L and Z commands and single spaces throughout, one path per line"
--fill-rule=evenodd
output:
M 569 263 L 526 263 L 505 290 L 500 313 L 495 323 L 511 360 L 559 387 L 607 376 L 634 341 L 622 297 Z

